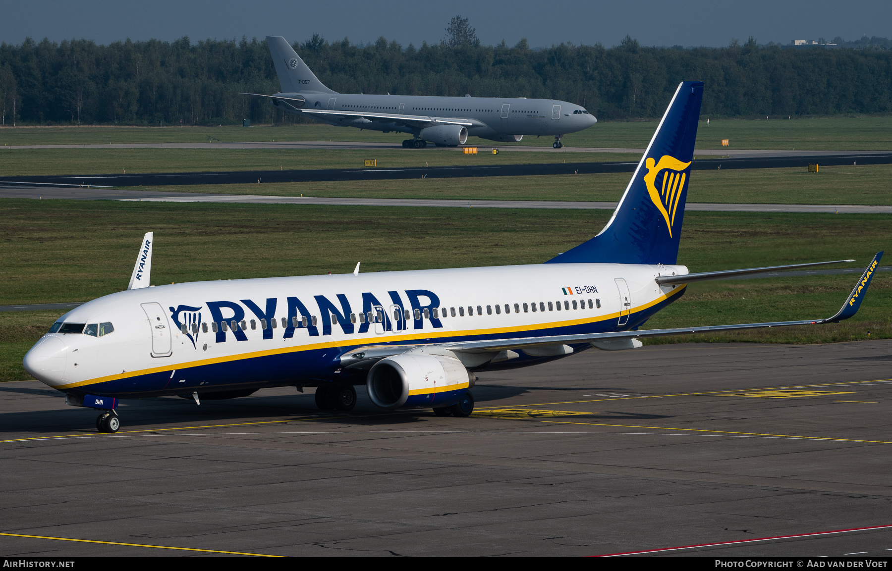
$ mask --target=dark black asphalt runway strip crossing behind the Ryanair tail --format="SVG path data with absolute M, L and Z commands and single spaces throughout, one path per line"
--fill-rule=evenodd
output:
M 759 156 L 737 159 L 697 159 L 693 170 L 736 168 L 789 168 L 807 167 L 815 161 L 811 155 Z M 822 155 L 820 165 L 886 165 L 892 164 L 892 152 L 868 154 L 844 153 Z M 305 183 L 331 181 L 397 180 L 413 178 L 467 178 L 483 176 L 533 176 L 533 175 L 595 175 L 605 173 L 632 173 L 637 161 L 543 163 L 518 165 L 492 165 L 474 167 L 406 167 L 406 168 L 318 168 L 293 170 L 258 170 L 206 173 L 146 173 L 106 175 L 40 175 L 6 176 L 0 185 L 69 185 L 69 186 L 169 186 L 190 184 L 262 184 Z

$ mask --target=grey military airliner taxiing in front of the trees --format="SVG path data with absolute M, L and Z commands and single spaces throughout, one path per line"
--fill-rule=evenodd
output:
M 310 115 L 334 126 L 355 126 L 408 133 L 404 147 L 427 143 L 454 147 L 468 135 L 500 143 L 517 143 L 524 135 L 561 137 L 598 122 L 574 103 L 552 99 L 503 97 L 423 97 L 417 95 L 338 94 L 322 85 L 284 37 L 267 37 L 282 92 L 268 97 L 278 109 Z

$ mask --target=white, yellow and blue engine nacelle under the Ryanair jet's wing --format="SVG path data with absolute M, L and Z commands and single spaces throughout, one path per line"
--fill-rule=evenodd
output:
M 368 371 L 368 397 L 385 409 L 458 403 L 471 379 L 465 365 L 442 355 L 393 355 Z

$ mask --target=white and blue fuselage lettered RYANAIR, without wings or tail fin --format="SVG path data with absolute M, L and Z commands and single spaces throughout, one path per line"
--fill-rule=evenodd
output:
M 312 386 L 355 347 L 632 329 L 681 294 L 654 281 L 667 273 L 688 271 L 513 265 L 162 285 L 71 310 L 59 322 L 113 331 L 48 333 L 24 364 L 50 387 L 108 396 Z M 541 362 L 523 356 L 517 366 Z

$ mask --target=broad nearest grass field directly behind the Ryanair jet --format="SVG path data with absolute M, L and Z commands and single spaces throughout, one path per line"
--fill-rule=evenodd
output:
M 155 233 L 153 283 L 435 267 L 536 264 L 599 232 L 608 211 L 363 208 L 87 200 L 0 201 L 0 305 L 86 301 L 123 290 L 143 232 Z M 857 258 L 888 249 L 886 215 L 691 212 L 679 260 L 691 271 Z M 351 256 L 345 256 L 350 252 Z M 840 265 L 843 267 L 846 265 Z M 833 314 L 851 275 L 710 281 L 647 328 L 808 319 Z M 0 379 L 62 312 L 0 313 Z M 822 327 L 651 340 L 827 343 L 892 337 L 892 276 L 862 311 Z

